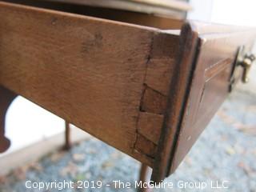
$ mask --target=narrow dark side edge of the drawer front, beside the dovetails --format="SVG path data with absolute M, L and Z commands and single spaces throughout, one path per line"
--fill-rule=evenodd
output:
M 171 76 L 169 97 L 167 100 L 162 131 L 158 142 L 157 155 L 154 161 L 151 180 L 162 182 L 169 174 L 172 148 L 175 145 L 175 136 L 183 113 L 186 91 L 190 84 L 190 72 L 194 61 L 194 49 L 197 46 L 198 34 L 194 33 L 192 26 L 186 24 L 182 27 L 178 54 L 174 63 L 174 73 Z

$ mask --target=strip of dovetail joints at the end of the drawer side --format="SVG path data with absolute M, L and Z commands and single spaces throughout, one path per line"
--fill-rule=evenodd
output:
M 143 151 L 146 156 L 152 158 L 158 156 L 155 153 L 166 110 L 166 93 L 174 73 L 173 65 L 177 54 L 178 38 L 179 36 L 176 33 L 156 34 L 153 38 L 150 58 L 147 62 L 134 151 Z M 152 151 L 141 150 L 142 146 L 145 146 L 145 148 L 148 146 Z

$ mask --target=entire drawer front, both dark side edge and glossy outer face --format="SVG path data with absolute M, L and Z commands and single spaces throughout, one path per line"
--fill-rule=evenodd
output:
M 181 38 L 177 76 L 170 86 L 170 110 L 158 145 L 158 152 L 164 152 L 155 162 L 154 181 L 174 172 L 213 118 L 230 92 L 238 48 L 245 46 L 249 52 L 256 31 L 193 23 L 183 27 Z M 236 72 L 241 78 L 242 66 Z

